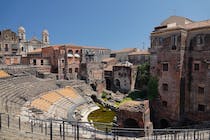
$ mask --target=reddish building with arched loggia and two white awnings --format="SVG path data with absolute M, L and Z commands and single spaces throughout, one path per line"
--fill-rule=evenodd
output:
M 80 71 L 81 46 L 54 45 L 42 48 L 42 57 L 48 58 L 51 72 L 57 79 L 77 79 Z

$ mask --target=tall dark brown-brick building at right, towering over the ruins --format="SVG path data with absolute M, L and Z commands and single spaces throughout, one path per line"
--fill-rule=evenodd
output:
M 210 21 L 172 16 L 151 33 L 150 73 L 158 78 L 152 103 L 159 127 L 209 120 Z

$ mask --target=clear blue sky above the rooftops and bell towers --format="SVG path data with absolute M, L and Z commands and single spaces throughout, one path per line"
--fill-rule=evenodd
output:
M 1 0 L 0 30 L 50 33 L 51 44 L 113 50 L 150 45 L 150 33 L 171 15 L 210 19 L 209 0 Z

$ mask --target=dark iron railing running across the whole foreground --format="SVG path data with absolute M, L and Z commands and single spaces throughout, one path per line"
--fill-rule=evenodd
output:
M 210 129 L 119 128 L 114 124 L 34 119 L 25 122 L 21 116 L 0 113 L 0 139 L 10 136 L 45 137 L 50 140 L 210 140 Z M 94 128 L 97 125 L 98 129 Z M 21 135 L 19 135 L 21 134 Z

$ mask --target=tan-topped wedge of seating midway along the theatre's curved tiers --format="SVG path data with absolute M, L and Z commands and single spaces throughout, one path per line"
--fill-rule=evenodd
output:
M 69 108 L 77 106 L 83 101 L 83 97 L 73 88 L 67 86 L 41 94 L 38 98 L 31 101 L 29 108 L 39 109 L 48 117 L 67 118 Z

